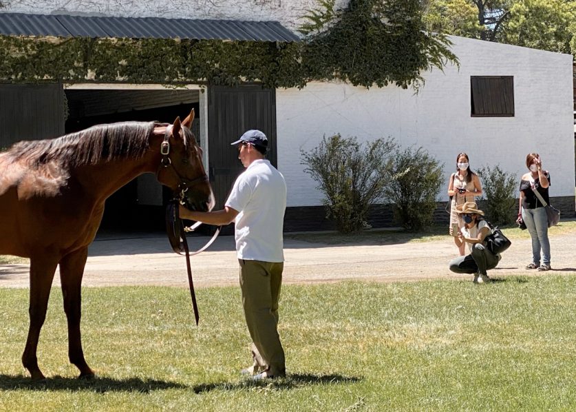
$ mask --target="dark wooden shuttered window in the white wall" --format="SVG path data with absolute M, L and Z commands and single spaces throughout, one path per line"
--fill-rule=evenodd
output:
M 514 116 L 513 76 L 470 76 L 473 117 Z

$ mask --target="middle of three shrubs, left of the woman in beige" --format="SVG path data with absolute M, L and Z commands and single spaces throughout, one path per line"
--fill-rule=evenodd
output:
M 395 203 L 394 218 L 405 229 L 416 231 L 431 225 L 436 197 L 443 183 L 443 165 L 423 147 L 396 150 L 392 179 L 385 196 Z

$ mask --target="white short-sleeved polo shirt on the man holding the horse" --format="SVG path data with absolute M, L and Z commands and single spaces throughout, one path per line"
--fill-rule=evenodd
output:
M 286 182 L 270 161 L 253 161 L 238 176 L 226 206 L 239 213 L 235 219 L 239 259 L 284 262 Z

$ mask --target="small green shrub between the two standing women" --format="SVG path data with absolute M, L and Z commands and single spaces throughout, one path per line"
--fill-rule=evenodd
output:
M 515 176 L 504 172 L 499 165 L 482 167 L 477 173 L 482 180 L 482 198 L 485 199 L 482 207 L 487 220 L 494 225 L 513 223 L 518 211 Z

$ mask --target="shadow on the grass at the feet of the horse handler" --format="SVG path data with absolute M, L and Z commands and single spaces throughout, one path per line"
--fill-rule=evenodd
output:
M 355 383 L 362 380 L 355 376 L 342 376 L 342 375 L 313 375 L 312 373 L 291 373 L 286 378 L 275 380 L 259 380 L 253 381 L 250 378 L 245 378 L 237 383 L 221 382 L 214 384 L 200 384 L 195 385 L 193 390 L 195 393 L 209 392 L 215 389 L 222 391 L 234 391 L 238 389 L 246 389 L 252 387 L 266 387 L 268 389 L 295 389 L 305 385 L 315 384 L 342 384 L 342 383 Z

